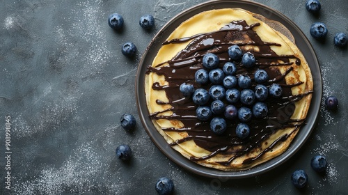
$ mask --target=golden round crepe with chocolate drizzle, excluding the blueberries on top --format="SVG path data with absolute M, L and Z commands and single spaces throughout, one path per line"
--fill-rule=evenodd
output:
M 282 24 L 240 8 L 209 10 L 180 24 L 159 49 L 145 77 L 150 118 L 158 132 L 184 157 L 223 171 L 250 169 L 284 153 L 301 130 L 313 90 L 310 68 L 293 40 Z M 231 45 L 254 54 L 253 68 L 244 68 L 240 61 L 229 58 Z M 280 98 L 264 101 L 269 109 L 266 117 L 246 122 L 251 128 L 246 139 L 236 136 L 239 119 L 226 119 L 226 132 L 214 134 L 209 121 L 196 117 L 198 105 L 180 93 L 184 82 L 209 89 L 211 84 L 197 84 L 194 78 L 207 53 L 219 56 L 220 68 L 228 61 L 237 64 L 236 77 L 249 75 L 251 89 L 255 88 L 253 73 L 258 69 L 269 75 L 265 86 L 277 83 L 283 88 Z M 235 107 L 245 105 L 239 102 Z

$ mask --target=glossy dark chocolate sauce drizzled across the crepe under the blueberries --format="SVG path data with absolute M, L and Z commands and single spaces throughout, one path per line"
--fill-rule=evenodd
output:
M 170 61 L 159 63 L 152 67 L 148 66 L 147 74 L 155 72 L 157 75 L 164 75 L 167 85 L 161 86 L 159 83 L 154 83 L 152 89 L 164 90 L 168 98 L 168 102 L 162 102 L 157 100 L 157 104 L 170 104 L 171 108 L 150 114 L 150 118 L 154 120 L 168 119 L 168 120 L 180 120 L 184 127 L 180 129 L 175 128 L 162 128 L 165 132 L 187 132 L 188 137 L 184 139 L 175 140 L 171 143 L 171 146 L 175 146 L 185 141 L 193 140 L 201 148 L 205 148 L 211 152 L 204 157 L 191 157 L 193 161 L 199 161 L 203 159 L 209 159 L 215 155 L 221 153 L 231 155 L 232 157 L 226 162 L 218 162 L 219 164 L 228 165 L 237 157 L 240 157 L 251 150 L 260 149 L 262 152 L 257 157 L 244 160 L 243 164 L 251 164 L 256 159 L 260 158 L 267 151 L 272 150 L 277 143 L 285 141 L 290 137 L 290 134 L 284 134 L 279 137 L 273 143 L 270 143 L 267 148 L 262 148 L 261 143 L 266 140 L 271 134 L 279 130 L 283 130 L 285 127 L 294 127 L 294 131 L 304 124 L 304 120 L 291 119 L 295 110 L 294 102 L 301 100 L 304 96 L 312 93 L 292 95 L 291 88 L 293 86 L 299 86 L 303 82 L 296 84 L 286 84 L 285 76 L 288 75 L 294 69 L 292 67 L 293 62 L 290 59 L 295 60 L 296 65 L 300 65 L 301 61 L 293 55 L 277 55 L 271 46 L 280 47 L 281 45 L 276 42 L 264 42 L 253 31 L 253 27 L 260 26 L 259 23 L 248 25 L 244 20 L 233 21 L 230 24 L 223 26 L 219 31 L 210 33 L 200 33 L 196 36 L 187 38 L 176 38 L 168 40 L 163 45 L 176 44 L 180 42 L 189 42 L 189 45 L 182 51 L 176 54 Z M 273 83 L 278 83 L 283 87 L 283 95 L 280 98 L 268 98 L 264 103 L 267 104 L 269 112 L 265 118 L 253 118 L 250 122 L 247 122 L 251 127 L 251 135 L 247 139 L 239 139 L 235 134 L 235 128 L 237 127 L 239 120 L 227 120 L 228 128 L 222 135 L 216 135 L 209 130 L 209 122 L 202 122 L 196 118 L 196 108 L 191 98 L 185 98 L 179 91 L 179 86 L 183 82 L 193 84 L 195 88 L 209 88 L 209 84 L 202 86 L 196 84 L 194 80 L 194 73 L 203 68 L 202 58 L 207 52 L 214 53 L 219 56 L 220 65 L 230 61 L 228 56 L 228 47 L 230 45 L 239 45 L 242 49 L 245 45 L 255 45 L 259 48 L 258 51 L 249 51 L 255 55 L 257 63 L 254 68 L 244 68 L 241 66 L 240 61 L 234 61 L 237 64 L 237 77 L 239 75 L 250 75 L 253 80 L 253 73 L 255 70 L 263 69 L 269 75 L 269 81 L 265 82 L 265 86 L 270 86 Z M 246 51 L 244 51 L 246 52 Z M 289 68 L 282 74 L 275 66 L 289 66 Z M 253 81 L 253 86 L 256 83 Z M 242 104 L 235 104 L 236 107 L 242 107 Z M 172 111 L 171 116 L 160 115 L 166 111 Z

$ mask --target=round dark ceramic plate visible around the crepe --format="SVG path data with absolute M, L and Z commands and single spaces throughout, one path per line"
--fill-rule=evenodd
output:
M 144 80 L 146 67 L 152 63 L 152 60 L 157 54 L 157 51 L 161 47 L 161 43 L 164 42 L 166 38 L 168 38 L 168 36 L 175 30 L 177 26 L 179 26 L 182 22 L 189 19 L 193 15 L 201 13 L 205 10 L 219 8 L 244 8 L 245 10 L 249 10 L 253 13 L 258 13 L 271 20 L 276 20 L 284 24 L 287 29 L 292 32 L 296 45 L 297 47 L 299 47 L 299 49 L 301 49 L 301 52 L 308 61 L 310 70 L 313 74 L 314 93 L 312 102 L 310 104 L 310 109 L 308 111 L 306 125 L 301 128 L 295 139 L 292 141 L 290 148 L 288 148 L 285 153 L 246 171 L 219 171 L 216 169 L 209 169 L 205 166 L 200 166 L 194 162 L 191 162 L 189 159 L 183 157 L 180 153 L 177 153 L 177 151 L 168 146 L 168 143 L 166 143 L 161 134 L 159 134 L 155 129 L 155 126 L 152 124 L 152 121 L 149 118 L 149 112 L 145 100 Z M 136 101 L 139 109 L 139 116 L 146 132 L 148 133 L 152 141 L 159 148 L 159 150 L 162 151 L 162 153 L 164 153 L 169 159 L 173 160 L 173 162 L 175 162 L 176 164 L 200 176 L 207 176 L 211 178 L 246 178 L 250 176 L 256 176 L 260 173 L 274 169 L 276 166 L 279 166 L 286 160 L 290 159 L 290 157 L 292 157 L 292 155 L 294 155 L 294 153 L 296 153 L 301 148 L 301 146 L 303 146 L 303 143 L 306 142 L 308 137 L 310 137 L 310 132 L 313 130 L 316 123 L 321 99 L 322 77 L 319 70 L 319 63 L 317 61 L 315 51 L 313 50 L 313 47 L 310 45 L 310 42 L 308 41 L 306 36 L 302 33 L 299 27 L 294 24 L 294 22 L 289 20 L 282 13 L 279 13 L 277 10 L 273 10 L 260 3 L 251 1 L 208 1 L 206 3 L 201 3 L 198 6 L 184 10 L 182 13 L 173 17 L 173 19 L 170 20 L 157 33 L 152 42 L 150 42 L 150 45 L 148 45 L 140 61 L 139 69 L 136 75 Z

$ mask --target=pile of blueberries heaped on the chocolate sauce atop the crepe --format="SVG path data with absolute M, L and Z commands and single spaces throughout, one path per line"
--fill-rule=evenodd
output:
M 251 52 L 242 53 L 238 45 L 228 48 L 228 56 L 234 61 L 242 59 L 244 68 L 253 68 L 256 63 L 255 56 Z M 246 124 L 251 118 L 264 118 L 268 108 L 264 100 L 269 96 L 279 98 L 283 89 L 279 84 L 271 84 L 269 88 L 264 82 L 269 80 L 269 75 L 262 69 L 254 73 L 255 87 L 251 85 L 251 77 L 248 75 L 236 76 L 237 65 L 228 61 L 219 68 L 220 60 L 216 54 L 207 53 L 203 56 L 203 68 L 196 71 L 195 80 L 206 88 L 194 88 L 193 84 L 183 83 L 180 92 L 184 96 L 191 96 L 193 102 L 198 105 L 196 116 L 199 120 L 210 120 L 210 130 L 215 134 L 223 134 L 226 131 L 226 120 L 238 118 L 241 123 L 236 127 L 237 137 L 245 139 L 250 133 L 250 127 Z M 212 101 L 211 101 L 212 100 Z M 235 104 L 242 103 L 237 108 Z

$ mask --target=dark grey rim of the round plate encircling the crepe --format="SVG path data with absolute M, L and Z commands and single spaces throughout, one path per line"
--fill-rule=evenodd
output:
M 156 42 L 156 41 L 160 38 L 161 34 L 163 34 L 164 31 L 166 31 L 166 29 L 168 29 L 174 22 L 182 19 L 182 17 L 184 17 L 185 14 L 191 13 L 194 10 L 205 8 L 205 6 L 211 7 L 211 8 L 208 8 L 206 10 L 212 10 L 212 9 L 214 9 L 213 8 L 214 6 L 216 6 L 218 4 L 224 4 L 224 3 L 229 4 L 229 6 L 226 8 L 237 8 L 238 6 L 233 6 L 235 4 L 244 4 L 244 6 L 252 5 L 252 6 L 261 8 L 262 10 L 268 10 L 270 13 L 274 13 L 274 14 L 276 14 L 277 17 L 280 17 L 282 20 L 285 20 L 285 22 L 287 24 L 284 24 L 283 22 L 281 22 L 281 23 L 283 25 L 285 25 L 287 27 L 287 29 L 289 29 L 289 25 L 290 25 L 293 28 L 293 31 L 296 31 L 296 33 L 299 34 L 299 37 L 304 42 L 304 45 L 306 45 L 308 47 L 307 48 L 308 51 L 306 51 L 306 52 L 309 52 L 311 54 L 310 56 L 313 57 L 313 65 L 312 66 L 315 66 L 315 68 L 317 68 L 317 70 L 319 70 L 319 71 L 315 72 L 315 73 L 319 73 L 319 75 L 317 75 L 316 80 L 314 79 L 314 76 L 313 76 L 313 88 L 315 89 L 315 91 L 313 92 L 313 97 L 312 97 L 312 100 L 310 103 L 310 109 L 308 110 L 308 114 L 315 113 L 315 116 L 313 116 L 314 118 L 310 117 L 310 118 L 312 118 L 312 120 L 310 120 L 310 121 L 307 120 L 309 117 L 306 118 L 306 126 L 305 127 L 307 127 L 308 130 L 305 134 L 305 137 L 299 138 L 299 136 L 296 135 L 294 140 L 299 141 L 299 143 L 296 145 L 296 147 L 293 148 L 294 141 L 292 141 L 289 148 L 287 148 L 287 150 L 285 150 L 285 153 L 279 155 L 278 157 L 274 157 L 273 159 L 269 160 L 269 162 L 276 161 L 276 159 L 278 159 L 278 161 L 275 162 L 274 164 L 269 164 L 269 162 L 268 162 L 269 166 L 265 167 L 264 169 L 260 169 L 260 166 L 262 166 L 262 164 L 260 164 L 258 166 L 255 166 L 255 167 L 248 169 L 248 170 L 245 170 L 245 171 L 220 171 L 217 169 L 212 169 L 212 168 L 207 168 L 205 166 L 201 166 L 199 164 L 196 164 L 195 162 L 191 162 L 189 159 L 184 158 L 180 153 L 178 153 L 176 150 L 171 148 L 168 145 L 168 143 L 165 142 L 166 146 L 161 146 L 161 143 L 160 143 L 161 141 L 156 140 L 155 135 L 154 135 L 154 134 L 159 134 L 159 132 L 155 129 L 155 126 L 152 124 L 152 122 L 150 124 L 146 123 L 145 117 L 149 116 L 148 107 L 145 105 L 145 110 L 147 111 L 147 113 L 144 113 L 143 112 L 144 105 L 143 106 L 141 105 L 141 96 L 143 96 L 143 98 L 145 98 L 145 92 L 143 93 L 143 95 L 141 95 L 139 93 L 140 91 L 142 91 L 141 88 L 143 88 L 143 85 L 141 85 L 141 76 L 142 76 L 141 73 L 145 73 L 145 72 L 142 72 L 142 70 L 144 69 L 144 66 L 147 66 L 146 64 L 144 65 L 145 57 L 148 54 L 148 52 L 150 52 L 150 48 L 153 47 L 153 45 L 155 45 L 156 43 L 158 44 L 158 42 Z M 244 8 L 244 9 L 248 10 L 246 8 Z M 201 12 L 203 12 L 203 11 L 205 11 L 205 10 L 202 10 Z M 258 14 L 263 15 L 262 13 L 258 13 Z M 196 15 L 196 14 L 193 14 L 193 15 Z M 264 16 L 264 17 L 266 17 L 266 16 Z M 189 17 L 184 19 L 184 20 L 188 20 L 188 19 L 189 19 Z M 290 29 L 289 29 L 289 31 L 291 33 L 294 33 Z M 295 40 L 296 40 L 296 38 L 295 38 Z M 299 47 L 299 49 L 303 53 L 303 51 L 300 47 Z M 303 56 L 305 56 L 305 54 L 303 54 Z M 312 66 L 310 65 L 311 72 L 312 72 Z M 313 75 L 313 72 L 312 72 L 312 75 Z M 320 109 L 320 104 L 321 104 L 320 102 L 322 100 L 322 73 L 320 71 L 319 61 L 317 59 L 317 54 L 315 53 L 315 50 L 313 49 L 313 45 L 311 45 L 310 41 L 305 36 L 303 31 L 301 31 L 301 29 L 299 29 L 299 27 L 294 22 L 292 22 L 292 20 L 290 20 L 287 16 L 285 16 L 283 13 L 280 13 L 278 10 L 275 10 L 274 8 L 270 8 L 269 6 L 265 6 L 262 3 L 258 3 L 258 2 L 254 2 L 254 1 L 213 0 L 213 1 L 203 2 L 203 3 L 198 3 L 196 6 L 191 6 L 190 8 L 182 10 L 180 13 L 177 13 L 177 15 L 172 17 L 171 20 L 168 20 L 168 22 L 166 22 L 166 24 L 164 26 L 162 26 L 161 29 L 159 29 L 159 31 L 155 34 L 155 36 L 150 41 L 149 45 L 146 47 L 145 51 L 143 52 L 143 55 L 141 56 L 141 60 L 139 61 L 139 67 L 138 67 L 138 70 L 136 72 L 136 79 L 135 79 L 135 93 L 136 93 L 136 105 L 138 108 L 139 118 L 141 119 L 141 123 L 143 124 L 145 132 L 147 132 L 148 136 L 152 140 L 152 143 L 155 143 L 155 146 L 157 146 L 157 148 L 161 151 L 161 153 L 166 155 L 166 157 L 171 159 L 171 161 L 175 162 L 175 164 L 181 166 L 182 168 L 184 168 L 187 171 L 190 171 L 191 173 L 196 173 L 199 176 L 205 176 L 208 178 L 224 178 L 224 179 L 249 178 L 251 176 L 257 176 L 257 175 L 260 175 L 260 174 L 265 173 L 267 171 L 271 171 L 272 169 L 275 169 L 276 167 L 280 166 L 281 164 L 287 162 L 306 143 L 306 141 L 310 137 L 310 134 L 313 132 L 313 129 L 317 123 L 317 118 L 319 115 L 319 109 Z M 313 98 L 315 98 L 315 97 L 319 98 L 319 103 L 313 105 Z M 153 127 L 151 127 L 151 126 L 153 126 Z M 154 130 L 150 130 L 151 128 L 153 128 Z M 303 127 L 301 127 L 301 128 L 303 128 Z M 163 137 L 162 137 L 162 139 L 163 139 L 163 141 L 165 141 Z M 170 152 L 168 152 L 168 150 L 166 150 L 166 148 L 170 148 L 171 153 L 173 153 L 173 152 L 176 153 L 176 155 L 175 155 L 176 157 L 173 157 L 173 155 L 171 155 Z M 291 151 L 290 151 L 290 149 L 291 149 Z M 263 164 L 267 164 L 267 162 L 264 162 Z M 237 174 L 237 173 L 239 173 L 239 174 Z

